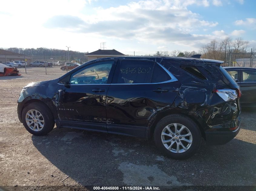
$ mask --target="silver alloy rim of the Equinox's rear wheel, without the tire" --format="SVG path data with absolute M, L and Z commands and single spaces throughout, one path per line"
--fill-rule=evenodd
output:
M 166 149 L 173 153 L 183 153 L 187 151 L 193 142 L 190 130 L 179 123 L 172 123 L 163 129 L 161 140 Z

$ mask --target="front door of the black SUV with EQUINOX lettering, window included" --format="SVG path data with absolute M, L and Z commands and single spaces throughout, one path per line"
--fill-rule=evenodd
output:
M 114 68 L 113 60 L 101 61 L 70 75 L 57 108 L 63 127 L 106 131 L 106 95 Z

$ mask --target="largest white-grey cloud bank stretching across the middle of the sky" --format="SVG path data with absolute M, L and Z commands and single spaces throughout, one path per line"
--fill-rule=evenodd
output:
M 202 27 L 218 25 L 218 22 L 202 20 L 200 15 L 184 7 L 185 4 L 198 2 L 203 3 L 202 6 L 208 6 L 208 1 L 205 0 L 147 0 L 106 9 L 97 8 L 93 15 L 69 18 L 67 15 L 54 16 L 44 26 L 119 40 L 133 39 L 144 43 L 150 41 L 153 44 L 173 42 L 187 46 L 208 42 L 209 38 L 222 38 L 193 34 Z

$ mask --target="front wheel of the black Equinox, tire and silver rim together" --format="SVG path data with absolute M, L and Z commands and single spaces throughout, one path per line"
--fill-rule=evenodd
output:
M 31 103 L 22 111 L 22 122 L 33 135 L 46 135 L 54 127 L 54 118 L 50 109 L 43 103 Z

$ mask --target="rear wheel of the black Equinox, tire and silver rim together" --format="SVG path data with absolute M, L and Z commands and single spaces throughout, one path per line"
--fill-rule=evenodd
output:
M 201 132 L 192 119 L 183 115 L 169 115 L 155 127 L 155 144 L 160 151 L 173 159 L 193 156 L 201 145 Z

